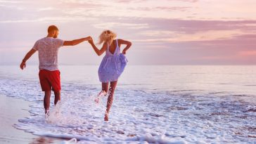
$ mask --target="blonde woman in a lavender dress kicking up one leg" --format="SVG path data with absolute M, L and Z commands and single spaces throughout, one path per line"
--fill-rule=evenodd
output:
M 101 55 L 105 52 L 105 56 L 101 61 L 100 67 L 98 68 L 98 77 L 102 82 L 102 91 L 98 94 L 98 96 L 108 94 L 108 103 L 104 117 L 105 121 L 108 121 L 108 113 L 113 103 L 113 96 L 115 87 L 117 86 L 117 80 L 124 71 L 124 67 L 127 63 L 127 59 L 125 58 L 124 54 L 130 48 L 130 46 L 132 46 L 130 41 L 115 39 L 115 37 L 117 37 L 117 35 L 114 32 L 111 32 L 110 30 L 103 31 L 98 42 L 98 44 L 103 43 L 101 49 L 98 49 L 94 45 L 93 40 L 89 41 L 97 55 Z M 126 47 L 123 49 L 122 53 L 120 53 L 120 46 L 122 44 L 126 45 Z M 109 83 L 110 87 L 108 88 Z

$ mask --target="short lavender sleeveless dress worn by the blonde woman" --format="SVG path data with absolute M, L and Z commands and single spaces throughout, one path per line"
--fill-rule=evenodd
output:
M 117 47 L 113 54 L 110 53 L 108 46 L 107 51 L 105 51 L 105 56 L 101 61 L 101 65 L 98 67 L 98 77 L 101 82 L 117 81 L 128 62 L 125 55 L 120 53 L 117 39 L 116 44 Z

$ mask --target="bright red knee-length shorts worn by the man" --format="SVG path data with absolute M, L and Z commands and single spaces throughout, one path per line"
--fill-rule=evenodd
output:
M 41 91 L 60 91 L 60 71 L 40 70 Z

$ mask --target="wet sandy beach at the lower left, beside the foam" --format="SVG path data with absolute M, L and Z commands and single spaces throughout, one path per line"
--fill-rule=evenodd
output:
M 34 136 L 13 127 L 18 123 L 18 119 L 30 116 L 29 105 L 30 102 L 25 100 L 0 96 L 0 143 L 60 143 L 61 140 L 56 138 Z

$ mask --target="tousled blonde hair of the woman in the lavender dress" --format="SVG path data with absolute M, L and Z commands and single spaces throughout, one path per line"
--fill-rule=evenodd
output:
M 104 30 L 98 37 L 98 44 L 102 44 L 103 42 L 105 42 L 110 45 L 112 44 L 115 37 L 117 37 L 117 34 L 115 34 L 115 32 L 112 32 L 110 30 Z

